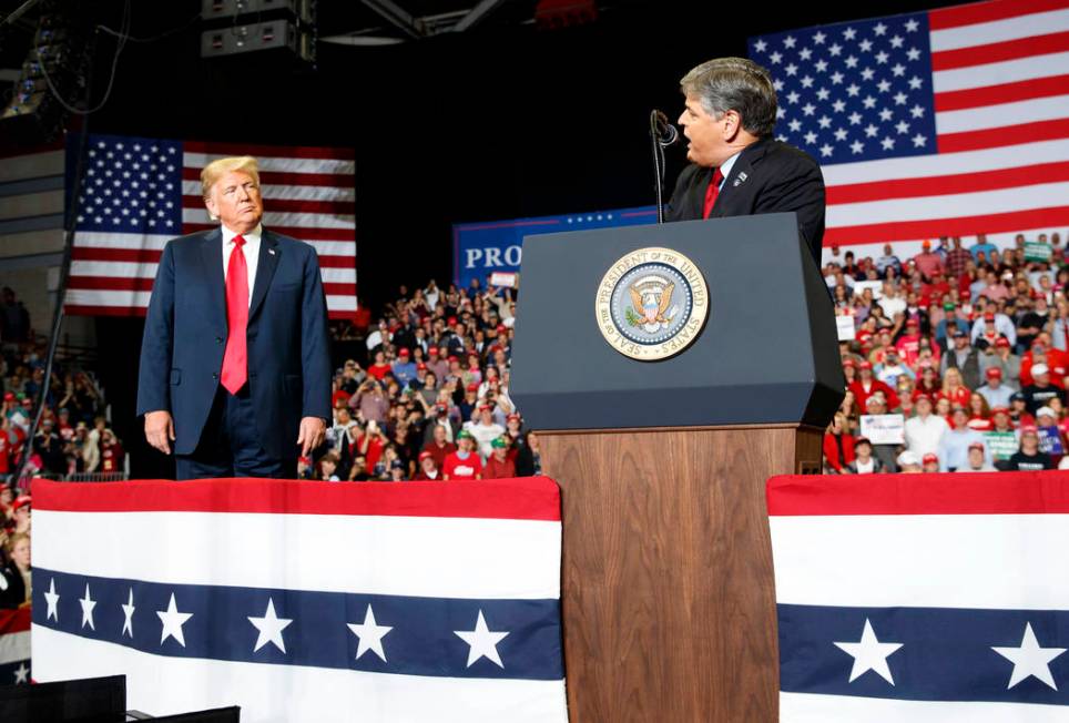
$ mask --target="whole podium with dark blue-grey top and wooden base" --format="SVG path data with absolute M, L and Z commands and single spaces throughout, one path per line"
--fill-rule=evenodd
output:
M 686 307 L 658 308 L 664 293 L 628 277 L 650 247 L 684 256 L 707 287 L 704 327 L 656 362 L 610 345 L 600 326 L 613 322 L 595 312 L 613 268 L 624 333 L 649 320 L 643 301 L 650 319 Z M 794 214 L 529 236 L 522 274 L 510 394 L 562 488 L 572 722 L 776 721 L 764 483 L 819 471 L 844 388 Z

